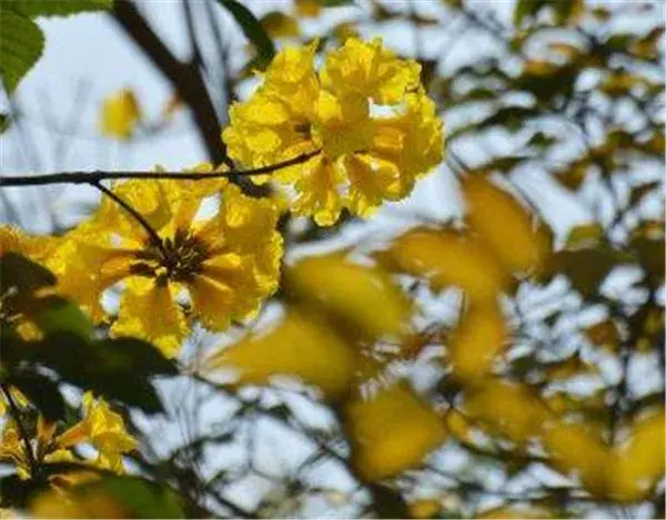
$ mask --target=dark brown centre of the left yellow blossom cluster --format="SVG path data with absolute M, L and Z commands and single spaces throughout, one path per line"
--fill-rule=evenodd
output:
M 173 239 L 162 239 L 161 247 L 147 243 L 132 264 L 137 275 L 167 282 L 191 282 L 209 257 L 205 244 L 195 236 L 178 230 Z

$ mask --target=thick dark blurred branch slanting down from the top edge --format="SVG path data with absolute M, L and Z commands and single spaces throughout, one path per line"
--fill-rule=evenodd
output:
M 143 50 L 153 64 L 171 81 L 185 104 L 192 110 L 199 134 L 208 154 L 216 164 L 232 162 L 222 142 L 222 128 L 196 63 L 178 60 L 164 42 L 155 34 L 134 3 L 117 0 L 113 18 L 125 33 Z

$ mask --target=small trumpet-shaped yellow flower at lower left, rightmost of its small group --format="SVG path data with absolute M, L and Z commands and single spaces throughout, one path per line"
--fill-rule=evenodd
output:
M 109 408 L 103 399 L 94 399 L 90 391 L 83 395 L 83 420 L 56 439 L 56 446 L 69 448 L 79 442 L 91 442 L 99 456 L 95 466 L 123 472 L 122 453 L 137 448 L 128 434 L 122 417 Z

